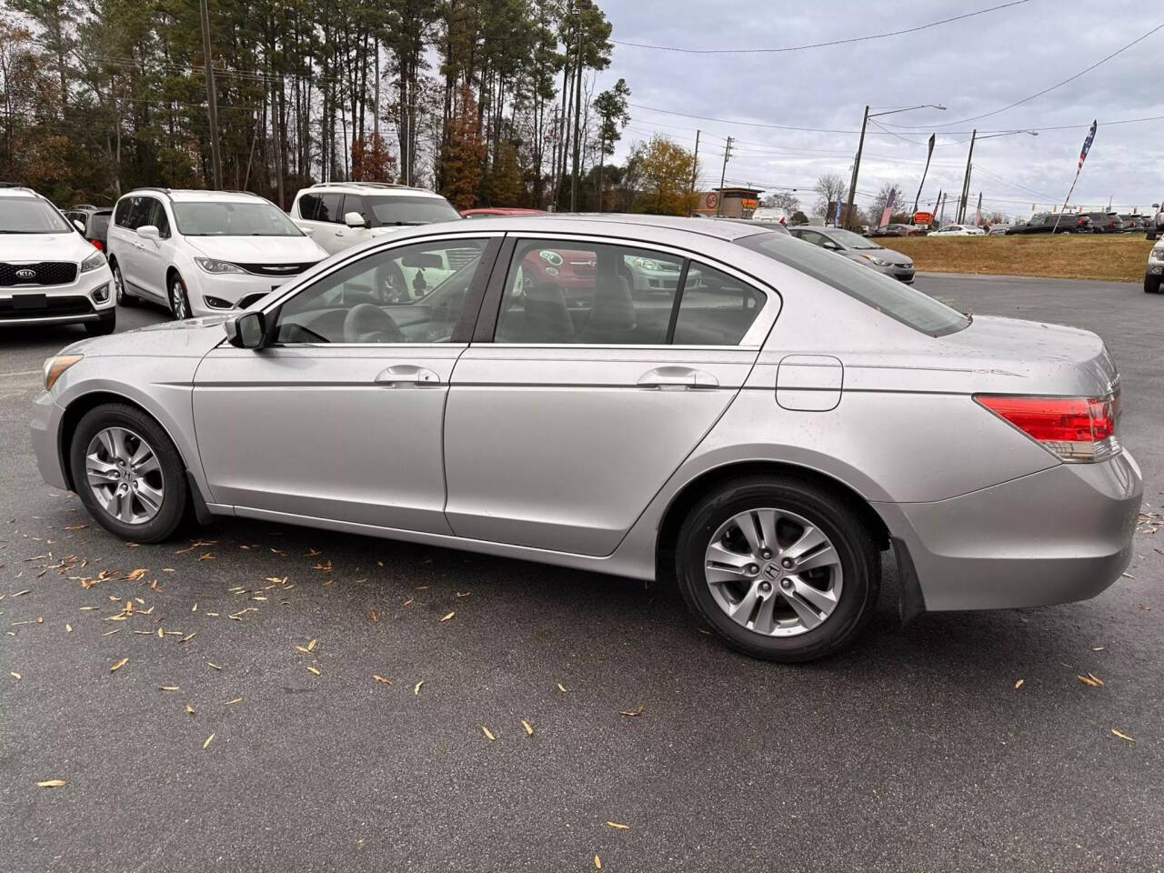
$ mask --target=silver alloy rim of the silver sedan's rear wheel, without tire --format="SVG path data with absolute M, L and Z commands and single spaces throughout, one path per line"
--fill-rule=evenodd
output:
M 724 521 L 708 544 L 704 577 L 729 618 L 766 637 L 819 627 L 843 587 L 840 555 L 829 537 L 781 509 L 747 510 Z

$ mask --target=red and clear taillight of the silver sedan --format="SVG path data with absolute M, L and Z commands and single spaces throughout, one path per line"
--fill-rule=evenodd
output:
M 1064 461 L 1102 461 L 1120 450 L 1119 389 L 1107 397 L 974 395 L 974 399 Z

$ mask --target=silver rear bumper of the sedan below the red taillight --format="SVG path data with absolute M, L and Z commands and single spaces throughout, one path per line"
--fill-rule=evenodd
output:
M 1131 560 L 1143 496 L 1127 452 L 935 503 L 876 503 L 908 549 L 927 611 L 1087 599 Z

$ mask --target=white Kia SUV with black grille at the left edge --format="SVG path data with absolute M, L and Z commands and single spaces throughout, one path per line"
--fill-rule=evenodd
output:
M 113 276 L 93 243 L 30 187 L 0 183 L 0 325 L 113 333 Z

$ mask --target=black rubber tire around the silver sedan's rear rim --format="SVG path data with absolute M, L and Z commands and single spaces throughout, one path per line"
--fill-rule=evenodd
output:
M 739 512 L 765 506 L 816 525 L 840 559 L 844 585 L 836 608 L 821 625 L 797 636 L 769 637 L 737 624 L 716 603 L 704 576 L 705 552 L 719 526 Z M 792 663 L 833 654 L 867 626 L 881 589 L 881 559 L 860 516 L 840 495 L 801 478 L 751 476 L 724 484 L 691 509 L 679 532 L 675 575 L 688 609 L 729 646 Z

